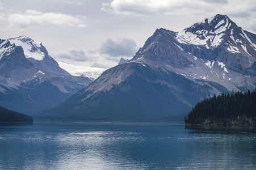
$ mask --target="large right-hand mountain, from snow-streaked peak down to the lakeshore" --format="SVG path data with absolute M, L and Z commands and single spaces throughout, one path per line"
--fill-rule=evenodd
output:
M 256 35 L 226 15 L 157 29 L 127 63 L 40 113 L 52 121 L 165 121 L 213 94 L 256 87 Z

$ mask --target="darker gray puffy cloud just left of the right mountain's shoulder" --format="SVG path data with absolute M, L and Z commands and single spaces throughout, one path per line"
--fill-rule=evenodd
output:
M 107 39 L 99 48 L 99 53 L 111 57 L 132 56 L 137 51 L 136 42 L 132 39 L 119 38 L 117 40 Z

